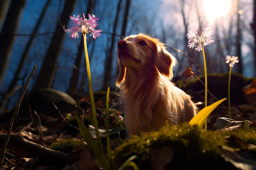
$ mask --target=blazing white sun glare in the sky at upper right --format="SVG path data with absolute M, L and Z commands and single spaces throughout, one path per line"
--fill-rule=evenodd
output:
M 232 0 L 203 0 L 203 10 L 209 22 L 214 22 L 223 16 L 227 16 L 231 9 Z

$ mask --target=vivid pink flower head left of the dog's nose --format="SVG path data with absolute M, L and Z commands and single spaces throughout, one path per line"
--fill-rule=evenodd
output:
M 71 26 L 69 29 L 66 29 L 65 32 L 71 34 L 71 38 L 76 39 L 76 37 L 79 37 L 78 32 L 81 32 L 82 34 L 90 33 L 90 36 L 93 36 L 93 39 L 96 39 L 96 37 L 101 35 L 101 29 L 95 29 L 98 24 L 97 20 L 98 17 L 95 17 L 95 15 L 88 14 L 89 19 L 86 19 L 84 16 L 84 13 L 82 13 L 82 18 L 80 18 L 80 14 L 75 16 L 69 16 L 70 19 L 73 20 L 71 24 L 75 24 L 75 26 Z

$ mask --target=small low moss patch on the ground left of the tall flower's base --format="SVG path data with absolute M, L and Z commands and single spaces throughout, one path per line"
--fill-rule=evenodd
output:
M 51 145 L 48 146 L 48 148 L 64 153 L 71 153 L 77 146 L 82 149 L 88 148 L 84 142 L 77 139 L 64 139 L 63 141 L 53 142 Z

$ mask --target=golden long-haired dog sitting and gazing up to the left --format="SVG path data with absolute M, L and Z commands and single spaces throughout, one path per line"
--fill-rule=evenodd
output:
M 139 34 L 117 42 L 116 79 L 129 135 L 158 130 L 168 122 L 189 121 L 196 114 L 191 97 L 170 80 L 176 59 L 158 39 Z

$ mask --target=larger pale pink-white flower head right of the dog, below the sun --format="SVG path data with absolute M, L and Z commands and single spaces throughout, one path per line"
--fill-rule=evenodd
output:
M 203 49 L 203 46 L 209 45 L 211 42 L 214 42 L 212 40 L 212 28 L 204 28 L 204 31 L 200 34 L 197 32 L 191 32 L 189 31 L 187 33 L 188 37 L 188 46 L 189 48 L 194 48 L 200 52 L 200 50 Z

